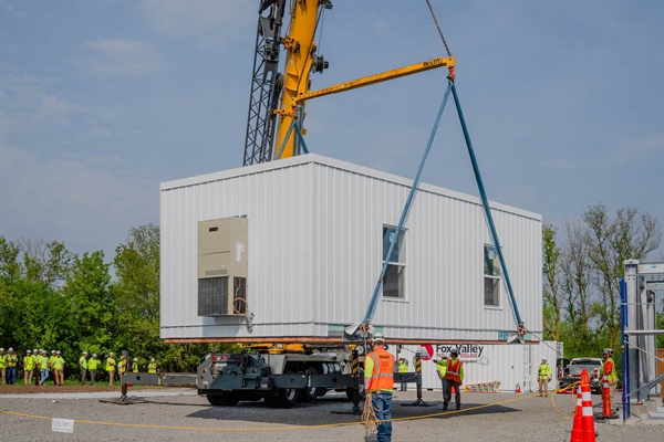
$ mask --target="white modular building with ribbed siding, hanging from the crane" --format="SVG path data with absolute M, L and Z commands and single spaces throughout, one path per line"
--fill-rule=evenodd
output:
M 315 154 L 162 183 L 162 338 L 340 341 L 367 311 L 412 183 Z M 490 207 L 520 316 L 541 334 L 541 217 Z M 394 249 L 371 319 L 388 341 L 516 330 L 479 198 L 421 185 Z

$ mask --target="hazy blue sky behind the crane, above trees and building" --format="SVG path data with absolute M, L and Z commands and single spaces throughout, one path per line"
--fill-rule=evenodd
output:
M 333 3 L 312 90 L 446 55 L 424 0 Z M 111 261 L 160 182 L 240 167 L 258 4 L 2 0 L 0 235 Z M 490 200 L 664 225 L 663 1 L 432 4 Z M 310 150 L 413 178 L 446 75 L 310 101 Z M 423 181 L 477 194 L 452 102 Z

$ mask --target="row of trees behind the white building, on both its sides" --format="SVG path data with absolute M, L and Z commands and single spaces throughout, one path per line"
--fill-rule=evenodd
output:
M 613 348 L 620 367 L 623 262 L 643 261 L 662 242 L 662 228 L 649 213 L 602 204 L 579 220 L 542 231 L 543 336 L 564 343 L 566 357 L 601 356 Z M 112 276 L 114 272 L 114 277 Z M 664 314 L 657 308 L 657 326 Z M 664 347 L 664 337 L 658 338 Z M 58 349 L 69 367 L 82 351 L 104 359 L 127 349 L 145 371 L 151 358 L 160 369 L 195 371 L 208 344 L 165 344 L 159 339 L 159 228 L 128 232 L 112 262 L 104 253 L 73 254 L 61 242 L 0 236 L 0 346 L 17 354 Z M 232 350 L 232 346 L 217 346 Z

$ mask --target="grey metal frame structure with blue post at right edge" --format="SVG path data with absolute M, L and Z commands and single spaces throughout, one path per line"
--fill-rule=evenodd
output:
M 664 373 L 657 376 L 657 336 L 664 329 L 656 326 L 657 292 L 664 291 L 664 263 L 624 262 L 621 281 L 622 301 L 622 385 L 623 419 L 630 415 L 630 404 L 658 396 Z

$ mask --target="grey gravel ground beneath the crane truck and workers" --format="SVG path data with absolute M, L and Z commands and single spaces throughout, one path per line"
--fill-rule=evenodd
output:
M 0 387 L 1 389 L 2 387 Z M 3 391 L 7 392 L 7 391 Z M 315 403 L 272 409 L 260 402 L 211 407 L 195 390 L 129 389 L 144 402 L 121 406 L 92 392 L 0 393 L 0 439 L 6 441 L 364 441 L 360 417 L 345 394 L 330 392 Z M 98 396 L 98 393 L 97 393 Z M 115 397 L 120 397 L 120 391 Z M 442 411 L 440 391 L 424 391 L 430 407 L 412 407 L 415 391 L 395 391 L 393 441 L 569 441 L 575 398 L 554 394 L 463 393 L 460 411 Z M 593 396 L 595 407 L 600 397 Z M 360 404 L 363 407 L 363 402 Z M 595 412 L 598 409 L 595 408 Z M 634 411 L 634 410 L 633 410 Z M 620 414 L 622 418 L 622 414 Z M 73 433 L 52 431 L 53 419 L 74 420 Z M 663 421 L 631 418 L 596 422 L 596 440 L 664 441 Z

